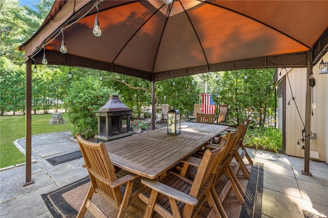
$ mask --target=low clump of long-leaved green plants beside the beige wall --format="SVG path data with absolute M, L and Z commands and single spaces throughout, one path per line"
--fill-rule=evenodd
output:
M 272 150 L 277 154 L 279 151 L 284 151 L 282 148 L 281 130 L 274 127 L 249 128 L 245 135 L 244 143 L 250 147 L 255 146 L 256 149 Z

